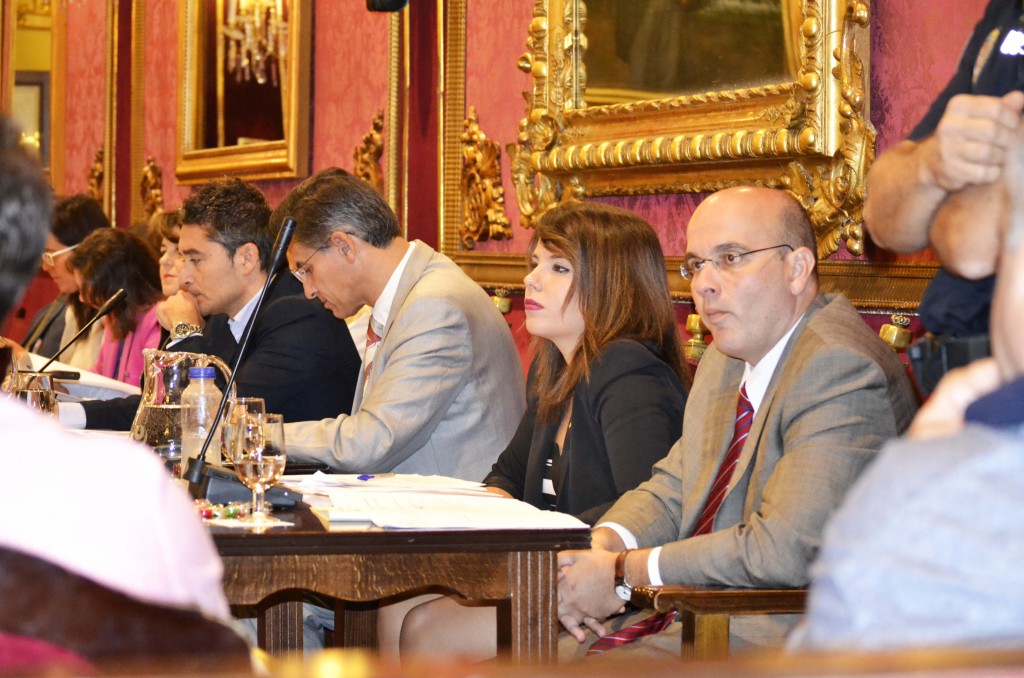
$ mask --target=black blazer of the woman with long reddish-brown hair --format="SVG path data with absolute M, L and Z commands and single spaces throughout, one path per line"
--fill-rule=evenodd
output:
M 558 422 L 537 423 L 534 370 L 529 400 L 512 441 L 484 483 L 538 508 L 545 465 Z M 686 389 L 653 344 L 620 339 L 591 366 L 590 380 L 572 393 L 568 465 L 555 486 L 556 510 L 594 524 L 624 493 L 650 478 L 651 466 L 683 430 Z

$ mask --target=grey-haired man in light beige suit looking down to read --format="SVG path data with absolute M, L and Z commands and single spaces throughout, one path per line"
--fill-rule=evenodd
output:
M 289 456 L 482 479 L 525 408 L 501 313 L 447 257 L 403 239 L 369 183 L 329 169 L 297 192 L 288 260 L 306 296 L 341 319 L 374 308 L 352 414 L 287 425 Z

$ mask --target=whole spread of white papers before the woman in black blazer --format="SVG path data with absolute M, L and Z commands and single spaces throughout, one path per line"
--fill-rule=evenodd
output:
M 479 482 L 437 475 L 314 474 L 293 486 L 329 529 L 574 529 L 587 524 L 486 492 Z

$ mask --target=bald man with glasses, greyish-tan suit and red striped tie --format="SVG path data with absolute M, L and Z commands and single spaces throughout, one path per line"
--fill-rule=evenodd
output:
M 916 409 L 893 351 L 844 297 L 818 293 L 814 235 L 787 194 L 717 193 L 687 240 L 682 272 L 715 341 L 682 438 L 601 518 L 590 551 L 560 555 L 559 616 L 574 637 L 563 656 L 594 642 L 588 627 L 606 636 L 592 651 L 639 635 L 651 610 L 608 619 L 633 586 L 805 586 L 828 515 Z M 633 649 L 678 654 L 679 626 L 653 620 L 659 632 Z

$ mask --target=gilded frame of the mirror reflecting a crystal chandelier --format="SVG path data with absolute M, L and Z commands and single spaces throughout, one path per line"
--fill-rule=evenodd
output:
M 199 149 L 199 96 L 202 78 L 199 63 L 205 34 L 201 26 L 203 0 L 181 0 L 178 26 L 178 138 L 175 175 L 181 183 L 201 183 L 230 174 L 246 179 L 301 177 L 309 173 L 309 74 L 312 44 L 312 0 L 290 0 L 288 73 L 283 78 L 288 91 L 285 138 L 247 145 Z M 218 19 L 219 20 L 219 19 Z M 284 84 L 283 84 L 284 86 Z

